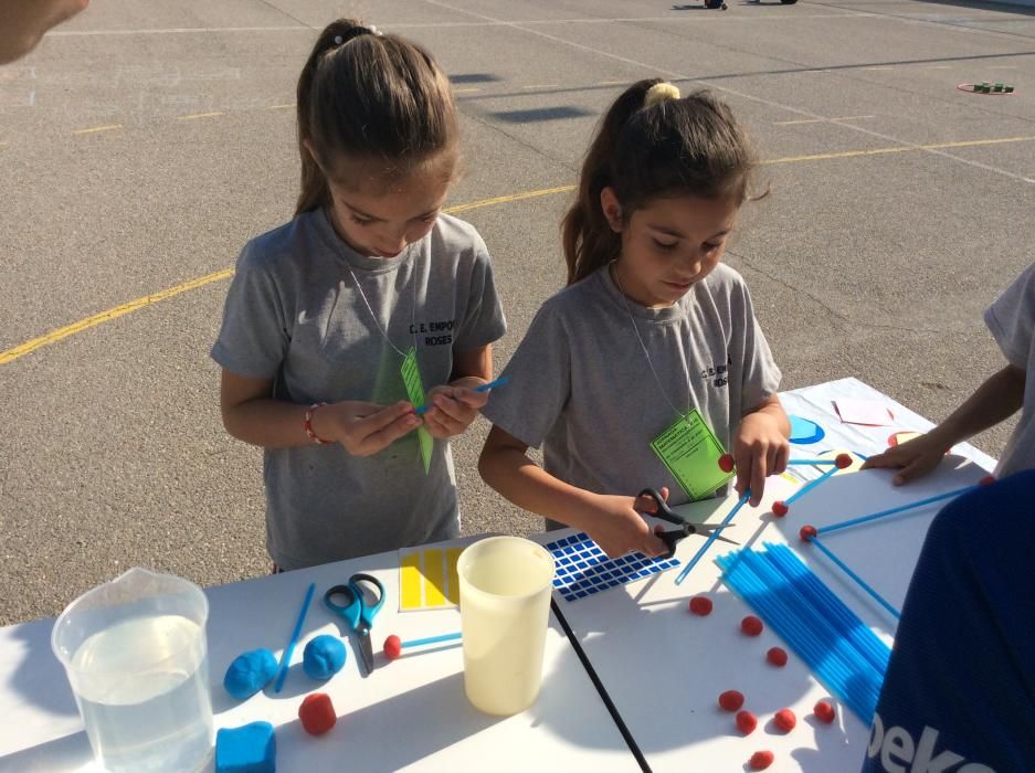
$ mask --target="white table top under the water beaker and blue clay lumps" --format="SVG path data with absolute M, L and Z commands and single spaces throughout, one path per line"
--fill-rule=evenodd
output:
M 389 634 L 408 640 L 460 629 L 455 610 L 398 612 L 398 565 L 397 553 L 389 552 L 208 589 L 215 727 L 272 722 L 277 770 L 286 773 L 640 770 L 552 615 L 542 691 L 530 709 L 514 717 L 489 717 L 471 707 L 460 646 L 429 647 L 386 661 L 380 649 Z M 372 635 L 376 670 L 362 678 L 359 653 L 349 644 L 345 668 L 327 682 L 313 681 L 302 670 L 305 643 L 321 633 L 346 633 L 324 606 L 323 593 L 357 571 L 378 576 L 388 596 Z M 279 657 L 310 582 L 316 594 L 283 691 L 273 695 L 271 689 L 244 702 L 231 699 L 222 688 L 230 661 L 256 647 Z M 93 770 L 67 681 L 51 654 L 52 625 L 45 620 L 0 629 L 0 771 Z M 311 691 L 327 692 L 338 713 L 335 728 L 319 738 L 308 735 L 297 717 Z

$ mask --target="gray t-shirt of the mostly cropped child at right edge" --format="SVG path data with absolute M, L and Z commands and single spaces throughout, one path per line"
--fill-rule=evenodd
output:
M 1010 364 L 1026 374 L 1021 421 L 995 467 L 1002 478 L 1035 467 L 1035 264 L 985 310 L 984 321 Z

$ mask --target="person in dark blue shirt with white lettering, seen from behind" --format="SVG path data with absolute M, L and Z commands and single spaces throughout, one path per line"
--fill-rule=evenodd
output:
M 934 518 L 866 752 L 863 773 L 1035 771 L 1035 470 Z

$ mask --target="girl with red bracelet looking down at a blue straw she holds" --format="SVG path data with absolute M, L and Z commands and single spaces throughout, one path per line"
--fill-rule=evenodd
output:
M 431 54 L 336 21 L 297 103 L 295 216 L 245 245 L 212 349 L 282 569 L 458 534 L 448 438 L 506 329 L 484 242 L 441 211 L 458 133 Z

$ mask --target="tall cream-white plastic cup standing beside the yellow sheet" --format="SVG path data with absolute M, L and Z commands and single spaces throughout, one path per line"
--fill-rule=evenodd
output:
M 553 557 L 519 537 L 489 537 L 456 569 L 467 699 L 489 714 L 524 711 L 542 681 Z

